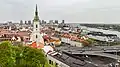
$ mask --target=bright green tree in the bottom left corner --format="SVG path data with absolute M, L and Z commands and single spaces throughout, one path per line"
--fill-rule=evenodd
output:
M 13 67 L 15 63 L 15 53 L 12 52 L 12 45 L 5 41 L 0 44 L 0 67 Z

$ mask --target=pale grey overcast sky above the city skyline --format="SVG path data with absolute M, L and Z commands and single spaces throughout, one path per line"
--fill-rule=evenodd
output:
M 0 0 L 0 21 L 40 19 L 68 22 L 120 22 L 120 0 Z

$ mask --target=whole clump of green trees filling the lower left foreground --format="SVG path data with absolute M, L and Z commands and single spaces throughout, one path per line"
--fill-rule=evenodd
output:
M 8 41 L 0 44 L 0 67 L 43 67 L 46 62 L 42 49 L 13 46 Z

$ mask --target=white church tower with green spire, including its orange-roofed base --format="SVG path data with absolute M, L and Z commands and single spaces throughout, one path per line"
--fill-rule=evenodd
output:
M 44 39 L 40 34 L 40 20 L 38 16 L 38 10 L 36 5 L 35 16 L 33 19 L 33 32 L 31 34 L 31 41 L 36 43 L 36 47 L 44 46 Z

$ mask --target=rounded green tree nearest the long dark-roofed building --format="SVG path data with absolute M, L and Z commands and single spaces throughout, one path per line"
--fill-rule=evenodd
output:
M 40 67 L 46 62 L 46 57 L 42 50 L 31 47 L 24 47 L 22 52 L 22 59 L 25 66 Z

